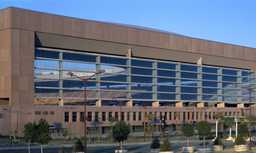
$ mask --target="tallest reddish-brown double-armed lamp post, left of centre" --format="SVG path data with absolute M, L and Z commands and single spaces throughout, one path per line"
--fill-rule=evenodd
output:
M 74 75 L 72 72 L 68 72 L 67 73 L 68 75 L 70 75 L 70 77 L 74 76 L 74 77 L 80 79 L 83 82 L 83 84 L 84 84 L 84 121 L 83 121 L 83 123 L 84 123 L 84 153 L 87 152 L 87 146 L 86 146 L 86 134 L 87 134 L 86 133 L 86 131 L 87 131 L 87 129 L 86 129 L 86 82 L 88 80 L 90 80 L 92 77 L 94 77 L 94 75 L 100 74 L 100 73 L 103 73 L 103 72 L 105 72 L 105 70 L 99 70 L 98 72 L 96 72 L 93 75 L 91 75 L 91 77 L 84 78 L 84 79 L 78 77 L 77 75 Z

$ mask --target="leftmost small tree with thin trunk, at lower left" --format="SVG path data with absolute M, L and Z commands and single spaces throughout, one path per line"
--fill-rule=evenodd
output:
M 30 153 L 30 143 L 35 142 L 36 140 L 36 124 L 35 122 L 28 122 L 25 124 L 24 139 L 29 144 L 29 153 Z

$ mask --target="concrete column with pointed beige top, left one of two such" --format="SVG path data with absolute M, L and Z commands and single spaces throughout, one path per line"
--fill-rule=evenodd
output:
M 126 61 L 126 65 L 127 65 L 127 68 L 126 68 L 126 82 L 127 82 L 127 86 L 126 86 L 126 90 L 128 90 L 128 91 L 131 91 L 132 90 L 132 87 L 131 87 L 131 82 L 132 82 L 132 79 L 131 79 L 131 73 L 132 73 L 132 71 L 131 71 L 131 65 L 132 65 L 132 60 L 131 60 L 131 58 L 132 58 L 132 49 L 129 49 L 128 50 L 128 52 L 127 52 L 127 54 L 126 54 L 126 57 L 127 58 L 129 58 L 129 59 L 127 59 L 127 61 Z M 126 98 L 129 98 L 129 97 L 131 97 L 132 96 L 132 94 L 131 94 L 131 92 L 126 92 Z

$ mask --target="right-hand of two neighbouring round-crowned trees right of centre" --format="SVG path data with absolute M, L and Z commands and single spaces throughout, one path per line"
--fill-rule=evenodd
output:
M 205 148 L 205 136 L 210 134 L 211 125 L 206 120 L 202 120 L 197 124 L 197 130 L 199 135 L 203 136 L 204 148 Z

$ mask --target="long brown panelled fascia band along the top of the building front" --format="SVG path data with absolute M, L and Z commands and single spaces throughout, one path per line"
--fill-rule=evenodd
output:
M 256 49 L 30 10 L 11 10 L 11 28 L 256 61 Z M 152 55 L 154 57 L 154 55 Z

